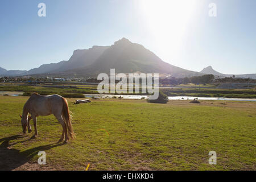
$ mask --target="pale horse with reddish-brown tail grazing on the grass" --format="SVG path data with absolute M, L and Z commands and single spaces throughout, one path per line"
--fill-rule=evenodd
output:
M 31 116 L 28 117 L 28 113 Z M 33 119 L 35 127 L 35 135 L 38 135 L 38 129 L 36 128 L 36 117 L 39 115 L 50 115 L 53 114 L 56 119 L 60 122 L 63 131 L 59 142 L 63 141 L 68 143 L 69 137 L 74 139 L 75 133 L 73 132 L 71 115 L 69 114 L 68 102 L 65 98 L 54 94 L 51 96 L 41 96 L 38 93 L 33 93 L 26 104 L 23 107 L 23 113 L 20 115 L 23 133 L 26 133 L 28 126 L 28 133 L 31 133 L 30 120 Z

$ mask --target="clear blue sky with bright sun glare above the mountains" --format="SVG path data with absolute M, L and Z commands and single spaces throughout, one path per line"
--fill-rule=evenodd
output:
M 38 4 L 46 4 L 46 17 Z M 208 15 L 210 3 L 217 16 Z M 31 69 L 125 37 L 192 71 L 256 73 L 255 0 L 1 0 L 0 67 Z

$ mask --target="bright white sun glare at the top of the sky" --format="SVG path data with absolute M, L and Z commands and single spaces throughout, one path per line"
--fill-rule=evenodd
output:
M 189 19 L 195 12 L 195 1 L 141 0 L 139 3 L 160 57 L 164 60 L 176 59 Z

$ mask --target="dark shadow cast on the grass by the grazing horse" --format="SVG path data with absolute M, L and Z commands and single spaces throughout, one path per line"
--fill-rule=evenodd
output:
M 26 164 L 27 162 L 29 162 L 30 159 L 33 158 L 33 156 L 38 155 L 39 151 L 47 151 L 53 147 L 62 145 L 59 143 L 47 144 L 44 146 L 31 148 L 29 150 L 22 151 L 22 152 L 20 152 L 20 150 L 10 148 L 16 143 L 23 143 L 33 139 L 33 137 L 31 137 L 30 139 L 26 139 L 21 142 L 10 144 L 11 140 L 20 139 L 20 138 L 24 138 L 24 135 L 13 135 L 11 137 L 0 139 L 0 142 L 2 142 L 0 145 L 0 171 L 10 171 L 10 170 L 16 169 L 22 166 L 23 164 Z

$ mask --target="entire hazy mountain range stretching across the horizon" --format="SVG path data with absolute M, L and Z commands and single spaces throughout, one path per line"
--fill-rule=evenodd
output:
M 76 49 L 69 60 L 58 63 L 42 64 L 29 71 L 7 71 L 0 67 L 1 76 L 48 75 L 48 76 L 90 76 L 109 73 L 163 73 L 171 77 L 192 77 L 212 74 L 218 77 L 230 77 L 215 71 L 211 66 L 201 72 L 189 71 L 164 62 L 154 52 L 141 44 L 132 43 L 126 38 L 114 42 L 111 46 L 93 46 L 88 49 Z M 236 77 L 256 78 L 256 74 L 235 75 Z

